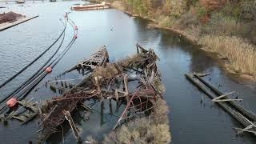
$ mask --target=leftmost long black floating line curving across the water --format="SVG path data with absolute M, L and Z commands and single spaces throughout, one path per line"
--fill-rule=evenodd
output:
M 64 29 L 62 30 L 62 33 L 58 36 L 58 38 L 46 49 L 42 52 L 42 54 L 39 54 L 37 58 L 34 58 L 34 60 L 32 62 L 30 62 L 28 65 L 26 65 L 25 67 L 23 67 L 21 70 L 19 70 L 16 74 L 14 74 L 13 76 L 11 76 L 10 78 L 8 78 L 5 82 L 2 82 L 2 84 L 0 85 L 0 88 L 2 88 L 3 86 L 5 86 L 8 82 L 12 81 L 14 78 L 16 78 L 18 76 L 18 74 L 21 74 L 24 70 L 26 70 L 28 67 L 30 67 L 34 62 L 36 62 L 39 58 L 42 57 L 43 54 L 46 54 L 46 52 L 48 50 L 50 50 L 51 47 L 53 47 L 55 45 L 56 42 L 58 42 L 59 38 L 62 37 L 62 35 L 64 34 L 64 31 L 66 30 L 66 24 Z

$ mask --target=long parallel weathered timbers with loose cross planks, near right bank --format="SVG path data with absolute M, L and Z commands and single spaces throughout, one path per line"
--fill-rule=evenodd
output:
M 230 98 L 228 95 L 233 93 L 222 93 L 218 88 L 211 85 L 210 82 L 206 82 L 206 80 L 201 78 L 198 74 L 185 74 L 185 76 L 194 84 L 194 86 L 197 86 L 199 90 L 202 90 L 203 93 L 212 99 L 212 102 L 218 104 L 218 106 L 244 126 L 242 129 L 234 128 L 234 130 L 237 130 L 238 134 L 242 132 L 256 134 L 256 114 L 250 110 L 246 110 L 236 102 L 242 99 Z

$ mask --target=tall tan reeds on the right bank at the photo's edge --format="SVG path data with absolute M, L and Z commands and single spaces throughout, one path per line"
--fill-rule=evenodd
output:
M 222 57 L 230 61 L 230 66 L 241 74 L 256 75 L 255 46 L 244 42 L 242 38 L 228 36 L 205 35 L 199 43 L 209 46 Z

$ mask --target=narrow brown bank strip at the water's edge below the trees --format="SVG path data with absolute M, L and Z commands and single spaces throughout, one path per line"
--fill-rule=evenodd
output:
M 256 77 L 254 75 L 251 75 L 251 74 L 243 74 L 243 73 L 240 73 L 240 72 L 236 72 L 232 66 L 230 66 L 230 64 L 227 62 L 226 59 L 223 59 L 222 56 L 220 54 L 218 54 L 218 52 L 216 51 L 213 51 L 211 50 L 211 48 L 209 46 L 203 46 L 202 44 L 200 44 L 198 42 L 198 38 L 194 38 L 193 36 L 191 36 L 190 34 L 186 34 L 186 32 L 184 30 L 178 30 L 178 29 L 175 29 L 173 27 L 166 27 L 166 26 L 159 26 L 157 22 L 155 22 L 155 20 L 153 18 L 147 18 L 147 17 L 143 17 L 139 14 L 133 14 L 133 13 L 130 13 L 129 11 L 127 10 L 121 10 L 119 9 L 118 7 L 116 6 L 113 6 L 111 5 L 114 9 L 116 10 L 120 10 L 122 11 L 123 13 L 125 14 L 128 14 L 129 16 L 131 17 L 135 17 L 135 18 L 143 18 L 143 19 L 147 19 L 149 20 L 151 23 L 150 23 L 150 26 L 151 28 L 156 28 L 156 29 L 165 29 L 165 30 L 170 30 L 176 34 L 180 34 L 183 38 L 186 38 L 186 40 L 188 40 L 189 42 L 191 42 L 192 44 L 198 46 L 198 48 L 200 50 L 204 50 L 208 53 L 211 53 L 211 54 L 216 54 L 217 57 L 212 57 L 212 58 L 216 58 L 216 60 L 218 61 L 218 63 L 220 64 L 220 66 L 222 66 L 222 70 L 225 70 L 226 72 L 228 72 L 229 74 L 236 74 L 238 76 L 238 78 L 236 78 L 236 80 L 242 80 L 242 81 L 246 81 L 246 82 L 250 82 L 250 83 L 253 83 L 253 82 L 256 82 Z

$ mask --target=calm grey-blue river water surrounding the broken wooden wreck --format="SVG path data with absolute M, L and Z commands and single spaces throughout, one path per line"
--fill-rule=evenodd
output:
M 18 70 L 26 66 L 38 54 L 58 37 L 63 29 L 62 18 L 65 12 L 70 11 L 70 6 L 81 3 L 74 2 L 27 2 L 24 5 L 4 4 L 6 9 L 0 12 L 13 10 L 14 12 L 32 16 L 38 14 L 29 22 L 24 22 L 8 30 L 0 32 L 0 82 L 9 78 Z M 59 95 L 44 83 L 76 65 L 78 60 L 88 57 L 101 46 L 106 46 L 111 59 L 118 60 L 135 53 L 138 42 L 146 48 L 153 48 L 161 59 L 158 66 L 162 71 L 162 82 L 166 86 L 164 98 L 170 107 L 170 129 L 173 143 L 255 143 L 256 139 L 245 134 L 236 136 L 233 127 L 241 127 L 230 115 L 210 102 L 205 94 L 188 82 L 186 73 L 209 73 L 211 82 L 224 92 L 237 91 L 242 98 L 242 106 L 256 112 L 256 90 L 244 82 L 237 82 L 234 75 L 222 69 L 213 54 L 208 54 L 197 46 L 193 46 L 186 39 L 166 30 L 148 30 L 148 22 L 141 18 L 131 18 L 118 10 L 90 10 L 73 11 L 69 18 L 78 26 L 78 39 L 74 42 L 69 52 L 54 67 L 51 74 L 38 84 L 26 100 L 34 97 L 34 101 L 44 100 Z M 66 38 L 61 48 L 63 50 L 73 37 L 73 30 L 67 26 Z M 59 43 L 59 42 L 58 42 Z M 58 44 L 57 43 L 57 44 Z M 13 82 L 0 90 L 0 96 L 8 94 L 11 90 L 29 78 L 50 54 L 56 50 L 57 45 L 47 52 L 42 58 L 30 66 Z M 73 72 L 66 74 L 61 79 L 78 79 L 81 74 Z M 207 80 L 209 77 L 206 78 Z M 75 82 L 78 82 L 79 79 Z M 200 102 L 201 99 L 204 102 Z M 90 102 L 88 102 L 89 104 Z M 80 118 L 79 112 L 75 114 L 74 121 L 82 130 L 82 138 L 92 135 L 93 138 L 102 140 L 118 119 L 122 110 L 110 114 L 108 102 L 104 102 L 103 112 L 100 104 L 94 106 L 94 114 L 85 122 Z M 21 126 L 20 122 L 11 121 L 8 125 L 0 125 L 1 143 L 27 143 L 36 142 L 38 126 L 37 120 Z M 76 143 L 74 136 L 66 125 L 64 127 L 64 140 L 66 143 Z M 62 143 L 62 131 L 53 134 L 46 143 Z

